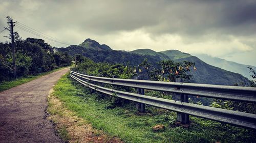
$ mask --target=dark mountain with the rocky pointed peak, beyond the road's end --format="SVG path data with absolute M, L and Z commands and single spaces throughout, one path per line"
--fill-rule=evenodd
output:
M 112 50 L 107 45 L 101 45 L 98 42 L 86 39 L 79 45 L 71 45 L 66 48 L 58 48 L 57 51 L 67 52 L 70 55 L 81 54 L 92 59 L 94 62 L 120 63 L 124 65 L 138 66 L 144 59 L 156 65 L 155 61 L 161 61 L 159 56 L 140 55 L 126 51 Z

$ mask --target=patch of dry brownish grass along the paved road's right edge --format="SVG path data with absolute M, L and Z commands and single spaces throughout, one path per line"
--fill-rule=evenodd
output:
M 97 130 L 82 118 L 79 118 L 76 112 L 65 107 L 56 97 L 55 92 L 48 96 L 47 112 L 50 115 L 48 120 L 56 125 L 57 134 L 65 142 L 115 142 L 122 143 L 119 138 L 110 136 L 102 130 Z

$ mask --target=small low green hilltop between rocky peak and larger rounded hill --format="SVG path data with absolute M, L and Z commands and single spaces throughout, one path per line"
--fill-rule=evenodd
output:
M 169 57 L 161 52 L 156 52 L 152 49 L 137 49 L 134 51 L 130 51 L 131 53 L 137 53 L 142 55 L 153 55 L 153 56 L 159 56 L 161 60 L 169 60 Z

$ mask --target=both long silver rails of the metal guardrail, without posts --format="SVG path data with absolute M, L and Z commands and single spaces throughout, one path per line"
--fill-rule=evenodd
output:
M 78 82 L 86 85 L 87 87 L 104 94 L 108 94 L 108 95 L 115 94 L 118 97 L 123 99 L 144 103 L 147 105 L 152 105 L 152 106 L 156 106 L 164 109 L 173 110 L 178 113 L 185 113 L 188 115 L 193 115 L 193 116 L 214 120 L 222 123 L 256 129 L 256 115 L 251 113 L 220 109 L 220 108 L 191 104 L 191 103 L 186 103 L 181 101 L 167 100 L 167 99 L 156 98 L 151 96 L 144 96 L 144 95 L 142 96 L 140 94 L 123 92 L 123 91 L 100 87 L 99 85 L 89 83 L 82 79 L 86 79 L 88 81 L 114 84 L 114 85 L 122 85 L 126 87 L 165 91 L 165 92 L 172 92 L 177 94 L 188 93 L 189 95 L 200 95 L 204 97 L 212 97 L 212 98 L 220 98 L 220 99 L 228 99 L 228 100 L 236 100 L 236 101 L 246 101 L 246 102 L 252 102 L 252 103 L 255 103 L 256 101 L 255 99 L 256 88 L 106 78 L 106 77 L 84 75 L 84 74 L 80 74 L 73 71 L 71 71 L 71 77 L 77 80 Z M 179 88 L 177 89 L 177 87 L 180 87 L 180 89 Z M 206 90 L 206 91 L 203 91 L 203 90 Z M 187 91 L 187 92 L 184 92 L 184 91 Z

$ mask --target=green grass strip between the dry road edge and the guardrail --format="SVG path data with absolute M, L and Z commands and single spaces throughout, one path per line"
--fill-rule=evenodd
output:
M 53 94 L 94 128 L 125 142 L 256 142 L 255 131 L 196 117 L 190 116 L 189 128 L 169 124 L 175 113 L 155 107 L 146 106 L 144 115 L 137 113 L 134 103 L 108 108 L 111 101 L 98 99 L 98 93 L 91 93 L 69 74 L 60 78 Z M 166 128 L 153 131 L 159 124 Z

